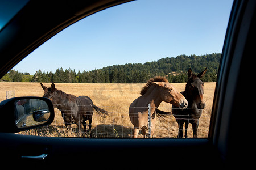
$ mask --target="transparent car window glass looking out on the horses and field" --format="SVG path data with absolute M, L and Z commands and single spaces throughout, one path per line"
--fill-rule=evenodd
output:
M 207 138 L 231 7 L 135 1 L 97 12 L 3 76 L 1 101 L 6 91 L 52 100 L 52 124 L 20 134 Z

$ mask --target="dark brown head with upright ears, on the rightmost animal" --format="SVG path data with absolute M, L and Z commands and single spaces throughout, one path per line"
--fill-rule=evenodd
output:
M 186 90 L 188 96 L 191 96 L 193 101 L 196 102 L 197 108 L 204 109 L 205 102 L 203 100 L 204 95 L 204 83 L 200 78 L 202 78 L 207 71 L 207 68 L 204 69 L 201 73 L 195 75 L 192 73 L 192 70 L 188 70 L 188 82 L 186 84 Z M 187 99 L 189 98 L 187 96 Z

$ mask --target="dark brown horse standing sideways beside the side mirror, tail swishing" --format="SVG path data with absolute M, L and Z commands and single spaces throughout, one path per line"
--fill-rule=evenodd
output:
M 95 109 L 98 113 L 108 115 L 108 111 L 101 109 L 93 104 L 92 100 L 88 96 L 76 97 L 71 94 L 66 94 L 61 90 L 55 88 L 55 84 L 52 83 L 51 87 L 47 88 L 41 83 L 44 90 L 43 97 L 47 97 L 52 101 L 53 107 L 60 110 L 64 119 L 65 125 L 68 130 L 71 130 L 71 124 L 75 123 L 79 132 L 81 133 L 81 124 L 86 131 L 86 120 L 89 121 L 89 135 L 92 130 L 92 116 Z

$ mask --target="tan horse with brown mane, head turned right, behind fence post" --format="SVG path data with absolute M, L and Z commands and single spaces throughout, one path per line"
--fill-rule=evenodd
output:
M 133 137 L 136 138 L 139 130 L 142 129 L 144 137 L 148 130 L 148 108 L 151 105 L 151 135 L 155 130 L 155 109 L 162 101 L 176 105 L 179 108 L 187 108 L 188 101 L 178 92 L 166 78 L 155 77 L 148 80 L 146 86 L 141 90 L 141 95 L 131 103 L 129 117 L 134 125 Z

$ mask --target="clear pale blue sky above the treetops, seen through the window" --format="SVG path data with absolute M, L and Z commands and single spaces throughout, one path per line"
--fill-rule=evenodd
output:
M 231 0 L 139 0 L 97 12 L 45 42 L 14 67 L 89 71 L 163 57 L 221 53 Z

